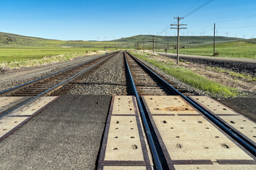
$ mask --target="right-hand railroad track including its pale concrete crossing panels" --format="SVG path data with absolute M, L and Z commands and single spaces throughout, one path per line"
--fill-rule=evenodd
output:
M 119 166 L 120 169 L 125 169 L 125 167 L 127 166 L 132 166 L 134 169 L 139 169 L 139 167 L 143 167 L 142 169 L 151 169 L 152 165 L 149 165 L 150 156 L 149 158 L 146 157 L 146 152 L 147 154 L 152 156 L 151 161 L 154 162 L 154 169 L 177 169 L 178 167 L 184 168 L 186 167 L 186 165 L 191 165 L 195 169 L 200 169 L 199 167 L 204 167 L 204 169 L 210 169 L 213 168 L 213 166 L 206 167 L 205 165 L 216 163 L 220 165 L 247 164 L 248 166 L 250 166 L 250 164 L 256 164 L 256 147 L 255 142 L 252 141 L 252 138 L 243 135 L 241 132 L 239 132 L 238 129 L 235 129 L 232 125 L 230 125 L 229 123 L 225 122 L 223 119 L 220 118 L 219 115 L 228 115 L 225 114 L 227 108 L 224 107 L 223 111 L 220 111 L 223 114 L 216 115 L 213 112 L 209 111 L 206 107 L 203 107 L 201 104 L 198 104 L 196 102 L 196 100 L 200 100 L 199 97 L 193 99 L 193 97 L 191 96 L 185 96 L 187 94 L 186 92 L 184 93 L 183 91 L 183 93 L 181 93 L 181 91 L 178 91 L 176 88 L 174 88 L 174 86 L 168 84 L 166 81 L 164 81 L 164 79 L 161 79 L 161 77 L 152 72 L 151 69 L 149 69 L 144 64 L 142 64 L 142 62 L 137 60 L 136 57 L 129 54 L 129 52 L 124 52 L 124 60 L 130 85 L 132 86 L 133 96 L 135 96 L 136 99 L 132 99 L 130 97 L 124 98 L 122 96 L 114 96 L 114 98 L 112 99 L 110 114 L 105 129 L 105 136 L 102 142 L 102 149 L 100 152 L 98 169 L 105 169 L 105 167 L 107 166 L 109 166 L 110 169 L 113 168 L 114 166 Z M 126 109 L 122 110 L 121 108 L 119 108 L 121 106 L 121 103 L 122 107 L 126 108 L 127 110 L 129 109 L 129 111 L 127 111 Z M 131 106 L 132 103 L 134 104 L 134 109 Z M 218 104 L 218 106 L 220 105 Z M 139 113 L 137 113 L 137 111 Z M 141 140 L 141 144 L 139 144 L 138 142 L 132 143 L 132 141 L 129 140 L 129 138 L 127 138 L 131 135 L 131 132 L 129 132 L 128 128 L 126 130 L 123 130 L 122 132 L 119 132 L 118 126 L 122 127 L 122 129 L 124 127 L 129 127 L 128 122 L 132 123 L 134 121 L 132 119 L 133 116 L 137 117 L 137 114 L 140 115 L 140 118 L 142 120 L 142 125 L 139 125 L 139 121 L 137 121 L 137 129 L 139 130 L 141 126 L 144 127 L 146 141 L 149 144 L 150 152 L 144 146 L 144 140 Z M 238 114 L 231 115 L 238 116 Z M 245 120 L 244 117 L 242 118 L 244 119 L 242 121 L 247 121 Z M 207 130 L 212 129 L 213 134 L 217 134 L 215 135 L 215 137 L 213 137 L 213 139 L 222 138 L 221 142 L 223 142 L 221 145 L 219 145 L 218 141 L 216 141 L 216 149 L 214 150 L 212 148 L 212 152 L 220 153 L 218 153 L 218 155 L 216 156 L 211 155 L 211 157 L 208 157 L 207 154 L 209 154 L 209 152 L 207 152 L 206 150 L 209 149 L 209 147 L 201 148 L 199 146 L 196 152 L 199 152 L 200 154 L 205 153 L 205 155 L 202 155 L 201 157 L 192 157 L 191 155 L 193 155 L 193 153 L 189 155 L 184 154 L 184 159 L 181 159 L 182 157 L 176 156 L 182 153 L 180 149 L 183 147 L 183 145 L 187 145 L 186 141 L 180 141 L 181 143 L 185 142 L 184 144 L 180 144 L 177 141 L 177 139 L 180 138 L 180 135 L 187 134 L 190 128 L 193 128 L 189 125 L 187 128 L 184 128 L 183 126 L 186 125 L 179 125 L 179 121 L 181 121 L 182 123 L 188 122 L 190 123 L 190 125 L 193 123 L 193 126 L 195 126 L 197 129 L 195 131 L 203 131 L 202 134 L 204 134 L 205 136 L 200 136 L 203 142 L 209 142 L 208 140 L 212 140 L 212 136 L 209 134 L 209 132 L 207 132 Z M 234 123 L 233 121 L 230 122 Z M 203 127 L 201 127 L 200 124 L 202 124 Z M 171 127 L 166 127 L 166 125 L 171 125 Z M 177 126 L 175 128 L 177 128 L 178 131 L 173 131 L 173 126 L 175 125 Z M 117 128 L 115 128 L 115 130 L 112 130 L 113 127 Z M 134 129 L 134 127 L 132 129 Z M 178 134 L 176 137 L 170 136 L 175 133 Z M 198 135 L 196 134 L 196 132 L 190 133 L 194 134 L 195 136 Z M 132 134 L 134 135 L 134 133 Z M 134 136 L 140 137 L 141 139 L 144 138 L 144 135 L 139 131 Z M 114 137 L 115 139 L 121 139 L 112 140 L 112 137 Z M 186 138 L 187 135 L 182 137 Z M 206 140 L 206 138 L 209 139 Z M 229 143 L 230 139 L 233 141 L 233 144 Z M 188 138 L 187 140 L 190 139 Z M 201 140 L 198 140 L 198 143 L 200 143 Z M 107 141 L 112 141 L 112 148 L 109 147 L 110 143 L 108 143 Z M 141 153 L 144 153 L 144 157 L 136 157 L 136 159 L 122 157 L 123 154 L 131 154 L 134 155 L 134 157 L 135 155 L 139 155 L 139 151 L 131 151 L 129 146 L 120 145 L 120 143 L 124 141 L 126 141 L 129 144 L 133 144 L 132 146 L 139 146 L 138 148 L 142 149 Z M 176 141 L 177 143 L 175 143 Z M 203 143 L 201 145 L 203 145 Z M 228 159 L 218 159 L 218 157 L 222 158 L 222 154 L 226 154 L 221 153 L 225 152 L 225 150 L 222 151 L 222 149 L 230 149 L 230 145 L 232 145 L 232 148 L 237 147 L 237 151 L 233 152 L 233 154 L 237 154 L 242 150 L 242 152 L 246 152 L 247 156 L 249 156 L 243 157 L 241 152 L 241 157 L 243 157 L 244 159 L 238 160 L 237 157 L 230 159 L 230 154 L 226 155 Z M 220 148 L 220 146 L 222 148 Z M 171 153 L 170 148 L 173 147 L 174 149 L 171 149 L 171 152 L 174 153 Z M 127 150 L 127 153 L 122 152 L 122 150 Z M 119 155 L 119 157 L 113 157 L 112 159 L 108 157 L 108 155 Z M 178 159 L 176 157 L 178 157 Z M 186 157 L 188 157 L 188 159 L 186 159 Z M 206 159 L 206 157 L 209 159 Z M 215 161 L 212 161 L 210 159 L 214 159 Z M 195 164 L 198 167 L 193 166 Z M 133 169 L 132 167 L 129 168 Z M 224 167 L 223 169 L 225 168 L 227 167 Z

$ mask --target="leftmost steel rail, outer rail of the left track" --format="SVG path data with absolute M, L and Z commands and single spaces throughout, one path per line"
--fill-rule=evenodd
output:
M 113 53 L 114 53 L 114 52 L 110 53 L 109 55 L 112 55 Z M 45 77 L 41 77 L 41 78 L 39 78 L 39 79 L 36 79 L 36 80 L 33 80 L 33 81 L 29 81 L 29 82 L 27 82 L 27 83 L 25 83 L 25 84 L 21 84 L 21 85 L 19 85 L 19 86 L 15 86 L 15 87 L 13 87 L 13 88 L 11 88 L 11 89 L 7 89 L 7 90 L 5 90 L 5 91 L 1 91 L 1 92 L 0 92 L 0 95 L 5 94 L 5 93 L 7 93 L 7 92 L 9 92 L 9 91 L 12 91 L 12 90 L 14 90 L 14 89 L 21 88 L 21 87 L 26 86 L 26 85 L 28 85 L 28 84 L 34 83 L 34 82 L 36 82 L 36 81 L 40 81 L 40 80 L 42 80 L 42 79 L 46 79 L 47 77 L 51 77 L 51 76 L 53 76 L 53 75 L 55 75 L 55 74 L 58 74 L 58 73 L 60 73 L 60 72 L 65 72 L 65 71 L 67 71 L 68 69 L 73 69 L 73 68 L 75 68 L 75 67 L 79 67 L 79 66 L 81 66 L 82 64 L 87 64 L 88 62 L 93 62 L 93 61 L 95 61 L 95 60 L 97 60 L 97 59 L 100 59 L 100 58 L 102 58 L 102 57 L 105 57 L 105 56 L 107 56 L 107 55 L 100 55 L 99 57 L 96 57 L 96 58 L 91 59 L 91 60 L 87 60 L 86 62 L 82 62 L 81 64 L 76 64 L 76 65 L 73 66 L 73 67 L 68 67 L 67 69 L 60 70 L 60 71 L 55 72 L 55 73 L 53 73 L 53 74 L 48 74 L 48 75 L 46 75 Z

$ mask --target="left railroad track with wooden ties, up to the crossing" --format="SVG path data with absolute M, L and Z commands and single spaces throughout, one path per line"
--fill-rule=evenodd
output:
M 86 62 L 63 69 L 60 72 L 49 74 L 46 77 L 30 81 L 26 84 L 21 84 L 12 89 L 1 91 L 0 96 L 28 96 L 26 101 L 19 103 L 18 106 L 4 111 L 2 115 L 6 115 L 14 109 L 23 106 L 24 104 L 35 101 L 41 96 L 58 96 L 67 94 L 73 88 L 72 82 L 79 79 L 83 74 L 90 72 L 92 69 L 97 69 L 100 64 L 105 63 L 111 57 L 117 55 L 117 52 L 108 55 L 101 55 L 100 57 L 92 58 Z

